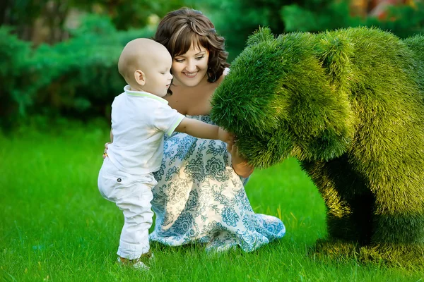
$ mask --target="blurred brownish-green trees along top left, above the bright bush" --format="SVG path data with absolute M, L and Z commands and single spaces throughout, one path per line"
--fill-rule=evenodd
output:
M 64 23 L 71 11 L 109 16 L 118 30 L 155 24 L 168 11 L 184 6 L 184 0 L 2 0 L 0 25 L 11 25 L 20 39 L 54 44 L 69 37 Z M 75 16 L 76 13 L 73 13 Z M 153 19 L 153 20 L 152 20 Z M 36 33 L 44 32 L 43 35 Z M 38 39 L 35 39 L 37 37 Z M 40 39 L 41 38 L 41 39 Z

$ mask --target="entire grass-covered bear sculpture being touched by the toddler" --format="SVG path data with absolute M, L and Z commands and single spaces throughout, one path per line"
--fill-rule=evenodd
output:
M 424 264 L 424 37 L 259 29 L 213 96 L 250 164 L 300 160 L 326 207 L 326 255 Z

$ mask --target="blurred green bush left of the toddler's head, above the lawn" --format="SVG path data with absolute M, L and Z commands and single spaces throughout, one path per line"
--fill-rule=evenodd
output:
M 1 125 L 34 114 L 108 116 L 113 98 L 125 85 L 117 71 L 124 45 L 136 37 L 152 37 L 154 30 L 118 31 L 108 18 L 89 16 L 73 37 L 35 50 L 0 27 L 2 103 Z

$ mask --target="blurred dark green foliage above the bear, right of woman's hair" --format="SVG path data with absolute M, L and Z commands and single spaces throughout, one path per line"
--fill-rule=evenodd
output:
M 245 47 L 247 36 L 259 26 L 268 26 L 274 34 L 281 34 L 294 30 L 314 32 L 352 24 L 347 17 L 347 1 L 203 0 L 196 1 L 196 7 L 211 17 L 218 32 L 225 37 L 230 61 Z

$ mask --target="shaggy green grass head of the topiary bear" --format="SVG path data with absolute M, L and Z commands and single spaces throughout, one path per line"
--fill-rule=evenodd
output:
M 342 79 L 351 51 L 348 40 L 307 32 L 274 37 L 259 28 L 213 94 L 211 118 L 237 135 L 240 153 L 257 167 L 288 156 L 338 157 L 353 136 Z

